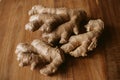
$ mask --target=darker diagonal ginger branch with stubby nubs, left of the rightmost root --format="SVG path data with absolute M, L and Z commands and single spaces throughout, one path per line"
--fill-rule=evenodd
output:
M 76 15 L 71 17 L 71 20 L 58 26 L 51 33 L 44 33 L 43 38 L 48 39 L 48 43 L 54 43 L 57 40 L 60 40 L 60 44 L 67 43 L 70 36 L 74 34 L 79 34 L 80 23 L 86 19 L 86 13 L 84 11 L 78 12 Z

